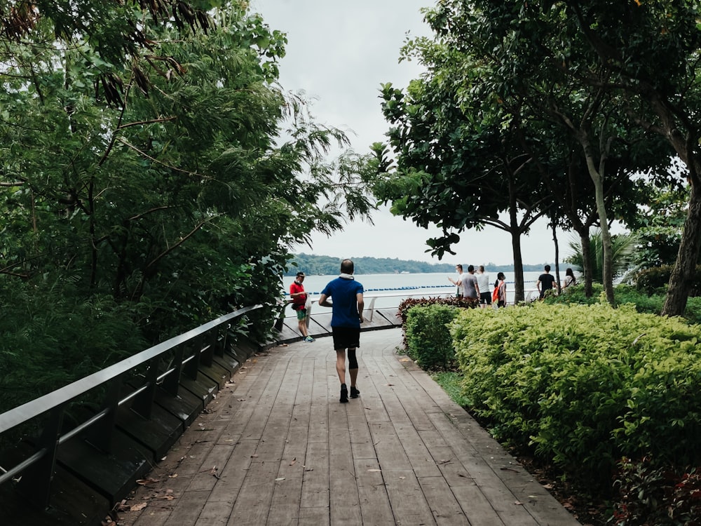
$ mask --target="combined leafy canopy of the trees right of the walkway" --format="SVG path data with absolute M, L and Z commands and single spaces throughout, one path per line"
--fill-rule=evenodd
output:
M 609 13 L 604 1 L 517 0 L 447 0 L 427 9 L 434 38 L 404 46 L 426 74 L 406 93 L 383 86 L 396 165 L 383 161 L 376 147 L 388 174 L 378 195 L 393 201 L 395 213 L 444 226 L 444 238 L 433 242 L 439 255 L 462 229 L 492 224 L 495 211 L 547 215 L 552 224 L 576 229 L 583 247 L 597 226 L 613 303 L 609 222 L 634 224 L 635 204 L 655 193 L 649 185 L 673 184 L 675 154 L 695 162 L 696 10 L 681 1 L 624 2 Z M 676 135 L 679 140 L 670 140 Z M 692 262 L 698 256 L 690 179 L 677 258 L 683 280 L 686 256 Z M 486 180 L 503 181 L 501 192 Z M 458 188 L 472 190 L 461 195 Z M 429 190 L 434 202 L 424 205 L 421 196 Z M 465 208 L 472 210 L 468 220 Z M 527 230 L 512 222 L 510 231 Z M 516 260 L 517 243 L 514 249 Z M 683 311 L 680 284 L 673 275 L 667 313 Z

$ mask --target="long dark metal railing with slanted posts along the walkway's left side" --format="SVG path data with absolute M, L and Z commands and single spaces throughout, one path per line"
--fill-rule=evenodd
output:
M 197 379 L 200 364 L 212 365 L 214 356 L 224 355 L 230 322 L 259 308 L 261 305 L 247 306 L 220 316 L 93 375 L 0 414 L 0 435 L 40 417 L 48 417 L 41 435 L 34 443 L 34 454 L 11 468 L 0 466 L 0 485 L 15 480 L 22 494 L 30 495 L 38 505 L 48 506 L 51 480 L 61 445 L 90 429 L 90 443 L 109 452 L 116 426 L 116 413 L 121 405 L 131 401 L 131 409 L 148 419 L 157 389 L 177 396 L 182 377 Z M 159 360 L 167 353 L 174 356 L 168 360 L 166 370 L 159 372 Z M 146 373 L 143 384 L 120 398 L 125 377 L 144 366 Z M 71 403 L 94 393 L 98 388 L 107 388 L 104 389 L 103 399 L 100 400 L 101 410 L 73 429 L 63 431 L 64 413 Z

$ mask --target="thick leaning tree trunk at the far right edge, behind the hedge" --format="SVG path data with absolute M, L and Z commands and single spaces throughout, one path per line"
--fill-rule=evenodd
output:
M 662 316 L 683 316 L 686 310 L 686 301 L 693 283 L 696 262 L 701 248 L 701 191 L 696 185 L 691 185 L 689 209 L 684 222 L 684 230 L 681 234 L 679 252 L 676 255 L 676 263 L 669 276 L 669 288 L 665 306 L 662 307 Z

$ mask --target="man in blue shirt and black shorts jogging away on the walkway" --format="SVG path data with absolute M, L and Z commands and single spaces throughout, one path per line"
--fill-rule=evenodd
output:
M 360 391 L 355 386 L 358 378 L 358 359 L 355 349 L 360 346 L 360 324 L 365 321 L 362 309 L 365 303 L 362 299 L 362 285 L 353 277 L 353 262 L 343 259 L 341 274 L 329 281 L 321 291 L 319 304 L 332 308 L 331 330 L 336 350 L 336 372 L 341 381 L 341 403 L 348 402 L 346 387 L 346 349 L 348 349 L 348 370 L 351 373 L 351 398 L 358 398 Z M 332 298 L 332 302 L 328 299 Z

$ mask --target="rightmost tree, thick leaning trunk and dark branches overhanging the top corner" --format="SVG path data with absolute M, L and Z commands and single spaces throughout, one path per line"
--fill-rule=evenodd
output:
M 550 31 L 562 35 L 551 40 L 557 44 L 549 50 L 552 65 L 618 97 L 629 119 L 657 133 L 684 163 L 690 190 L 688 212 L 662 311 L 681 315 L 701 250 L 699 7 L 681 0 L 555 1 L 545 6 L 484 0 L 475 4 L 494 21 L 485 34 L 495 34 L 491 28 L 500 25 L 536 46 L 537 29 L 550 21 Z M 583 63 L 589 66 L 583 69 Z M 589 74 L 596 70 L 608 72 L 606 79 Z

